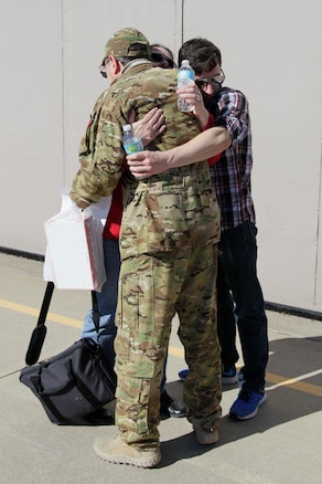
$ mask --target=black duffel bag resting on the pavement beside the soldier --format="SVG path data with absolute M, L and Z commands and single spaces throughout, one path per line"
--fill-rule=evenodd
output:
M 116 373 L 89 338 L 21 370 L 20 381 L 41 401 L 53 423 L 90 413 L 115 398 Z

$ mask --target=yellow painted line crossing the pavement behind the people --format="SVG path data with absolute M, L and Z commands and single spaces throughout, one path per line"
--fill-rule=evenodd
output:
M 0 299 L 0 307 L 9 311 L 15 311 L 18 313 L 28 314 L 30 316 L 39 317 L 40 309 L 35 309 L 34 307 L 25 306 L 23 304 L 12 303 L 10 301 Z M 47 320 L 52 323 L 58 323 L 66 326 L 72 326 L 75 328 L 82 328 L 83 322 L 79 319 L 73 319 L 71 317 L 61 316 L 60 314 L 49 313 Z M 183 348 L 178 348 L 175 346 L 169 346 L 169 354 L 175 356 L 178 358 L 184 358 Z M 268 383 L 272 383 L 271 387 L 268 387 L 267 390 L 275 390 L 278 387 L 290 387 L 294 390 L 302 391 L 304 393 L 313 394 L 315 397 L 322 397 L 322 387 L 316 385 L 307 383 L 304 381 L 300 381 L 304 378 L 310 378 L 314 375 L 322 373 L 321 370 L 312 371 L 311 373 L 302 375 L 298 378 L 286 378 L 280 375 L 275 375 L 268 372 L 266 375 L 266 379 Z

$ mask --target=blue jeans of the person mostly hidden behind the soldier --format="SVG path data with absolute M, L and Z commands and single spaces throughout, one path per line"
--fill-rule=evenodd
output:
M 101 287 L 100 293 L 97 295 L 97 305 L 100 312 L 99 317 L 99 337 L 97 338 L 97 332 L 95 329 L 95 324 L 93 320 L 92 309 L 85 316 L 84 325 L 82 329 L 82 338 L 92 338 L 94 341 L 98 343 L 104 353 L 106 354 L 108 360 L 111 365 L 115 365 L 115 349 L 114 341 L 116 338 L 117 327 L 115 325 L 115 313 L 118 298 L 118 278 L 120 271 L 120 253 L 118 240 L 104 239 L 104 262 L 106 271 L 106 281 Z M 168 353 L 164 360 L 164 371 L 161 382 L 161 391 L 164 390 L 165 386 L 165 365 L 167 365 Z

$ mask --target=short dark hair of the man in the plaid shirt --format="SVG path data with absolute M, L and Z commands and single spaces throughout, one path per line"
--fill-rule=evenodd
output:
M 207 39 L 197 38 L 184 42 L 178 53 L 179 65 L 184 59 L 190 61 L 196 75 L 212 71 L 217 64 L 222 65 L 219 49 Z

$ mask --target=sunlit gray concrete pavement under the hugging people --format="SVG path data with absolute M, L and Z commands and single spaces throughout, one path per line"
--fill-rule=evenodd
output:
M 19 382 L 45 283 L 42 263 L 0 253 L 0 483 L 58 484 L 318 484 L 322 481 L 322 323 L 268 313 L 268 400 L 247 422 L 227 417 L 237 386 L 223 388 L 221 441 L 196 444 L 186 419 L 160 424 L 162 461 L 141 470 L 108 464 L 93 452 L 97 435 L 115 427 L 57 427 Z M 90 294 L 55 291 L 41 358 L 78 339 Z M 185 367 L 173 322 L 168 391 L 181 399 Z M 242 361 L 240 361 L 242 365 Z

